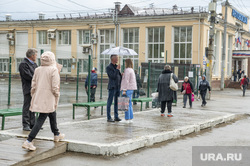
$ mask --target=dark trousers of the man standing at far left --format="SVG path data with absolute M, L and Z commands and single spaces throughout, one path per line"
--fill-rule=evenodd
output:
M 23 127 L 29 126 L 32 128 L 35 125 L 35 113 L 30 111 L 30 102 L 31 102 L 31 95 L 30 93 L 23 96 L 23 117 L 22 117 L 22 123 Z

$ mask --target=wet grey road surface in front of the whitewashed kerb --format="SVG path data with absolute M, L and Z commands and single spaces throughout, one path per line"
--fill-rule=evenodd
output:
M 220 125 L 173 141 L 120 156 L 95 156 L 68 152 L 36 163 L 36 166 L 191 166 L 192 146 L 250 146 L 250 118 Z

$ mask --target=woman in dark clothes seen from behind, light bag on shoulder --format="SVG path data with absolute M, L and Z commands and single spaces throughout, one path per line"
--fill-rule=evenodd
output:
M 165 109 L 167 104 L 168 117 L 173 117 L 172 103 L 174 99 L 174 91 L 170 89 L 170 79 L 173 78 L 175 83 L 178 83 L 178 78 L 171 71 L 171 66 L 165 65 L 162 74 L 158 79 L 157 92 L 159 101 L 161 102 L 161 116 L 165 116 Z

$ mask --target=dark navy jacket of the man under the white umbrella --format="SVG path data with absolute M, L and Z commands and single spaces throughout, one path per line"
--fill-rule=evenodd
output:
M 106 72 L 109 77 L 108 89 L 119 89 L 121 88 L 122 75 L 120 70 L 117 69 L 117 65 L 110 63 L 106 67 Z

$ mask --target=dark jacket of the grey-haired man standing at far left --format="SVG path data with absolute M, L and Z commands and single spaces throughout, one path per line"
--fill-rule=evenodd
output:
M 30 93 L 31 81 L 36 68 L 37 64 L 32 64 L 27 58 L 24 58 L 24 60 L 19 65 L 19 72 L 23 87 L 23 95 L 27 95 Z

